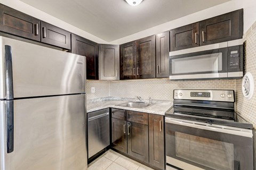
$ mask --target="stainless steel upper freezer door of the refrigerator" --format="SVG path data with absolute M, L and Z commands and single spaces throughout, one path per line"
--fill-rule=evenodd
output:
M 11 46 L 14 98 L 85 92 L 85 57 L 0 37 L 0 99 L 5 99 L 5 46 Z

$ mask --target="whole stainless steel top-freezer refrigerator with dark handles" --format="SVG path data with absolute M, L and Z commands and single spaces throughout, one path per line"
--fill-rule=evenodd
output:
M 5 37 L 0 46 L 0 169 L 87 169 L 85 57 Z

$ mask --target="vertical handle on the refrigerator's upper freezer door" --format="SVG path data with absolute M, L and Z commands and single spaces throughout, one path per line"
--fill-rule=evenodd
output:
M 5 86 L 6 99 L 13 100 L 12 47 L 5 45 Z

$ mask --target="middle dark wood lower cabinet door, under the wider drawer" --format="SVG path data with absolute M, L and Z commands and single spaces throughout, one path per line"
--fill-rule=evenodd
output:
M 127 122 L 128 154 L 148 163 L 148 126 Z

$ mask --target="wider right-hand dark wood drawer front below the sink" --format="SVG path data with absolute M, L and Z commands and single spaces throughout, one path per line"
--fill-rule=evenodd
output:
M 148 124 L 148 114 L 142 112 L 126 111 L 127 121 Z

